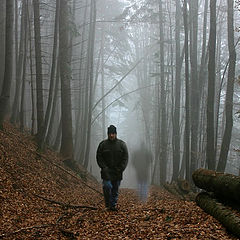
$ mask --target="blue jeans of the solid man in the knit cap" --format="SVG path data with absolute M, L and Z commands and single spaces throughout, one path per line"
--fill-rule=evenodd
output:
M 118 200 L 118 189 L 121 181 L 103 180 L 103 195 L 106 207 L 115 207 Z

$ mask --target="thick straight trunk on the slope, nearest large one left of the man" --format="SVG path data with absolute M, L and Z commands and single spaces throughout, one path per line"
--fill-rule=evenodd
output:
M 73 160 L 72 107 L 71 107 L 71 62 L 69 54 L 68 1 L 60 0 L 59 57 L 61 76 L 62 142 L 61 154 L 67 161 Z

